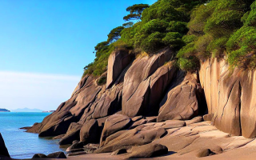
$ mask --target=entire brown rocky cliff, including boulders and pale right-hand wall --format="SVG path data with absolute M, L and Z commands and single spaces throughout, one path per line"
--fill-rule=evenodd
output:
M 69 100 L 27 131 L 58 136 L 60 145 L 78 140 L 71 148 L 98 143 L 90 148 L 94 153 L 134 150 L 131 157 L 141 150 L 135 146 L 165 152 L 154 142 L 169 130 L 201 122 L 200 115 L 228 134 L 254 138 L 254 70 L 230 70 L 225 60 L 213 58 L 191 74 L 178 70 L 173 55 L 170 48 L 137 58 L 114 51 L 106 73 L 98 79 L 86 75 Z

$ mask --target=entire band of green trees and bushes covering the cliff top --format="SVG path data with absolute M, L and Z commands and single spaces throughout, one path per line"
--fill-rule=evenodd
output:
M 158 0 L 151 6 L 135 4 L 126 10 L 130 12 L 124 17 L 126 23 L 95 46 L 96 58 L 85 67 L 85 74 L 98 77 L 104 73 L 107 58 L 116 48 L 154 54 L 170 46 L 182 70 L 198 70 L 199 60 L 223 56 L 230 66 L 256 66 L 253 0 Z

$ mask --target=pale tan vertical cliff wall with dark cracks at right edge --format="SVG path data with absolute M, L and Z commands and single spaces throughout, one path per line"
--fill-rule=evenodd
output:
M 202 62 L 199 75 L 214 125 L 226 133 L 256 137 L 255 70 L 229 70 L 225 60 L 214 58 Z

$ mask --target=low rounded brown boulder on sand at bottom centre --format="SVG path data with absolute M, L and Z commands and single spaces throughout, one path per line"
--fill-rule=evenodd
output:
M 153 158 L 164 154 L 168 154 L 168 148 L 152 142 L 143 146 L 133 146 L 124 158 Z

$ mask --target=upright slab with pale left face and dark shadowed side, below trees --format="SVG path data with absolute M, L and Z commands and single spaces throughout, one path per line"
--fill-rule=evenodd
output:
M 110 54 L 107 66 L 106 88 L 110 88 L 119 74 L 121 74 L 122 70 L 124 70 L 133 59 L 134 55 L 129 54 L 128 50 L 115 50 Z

